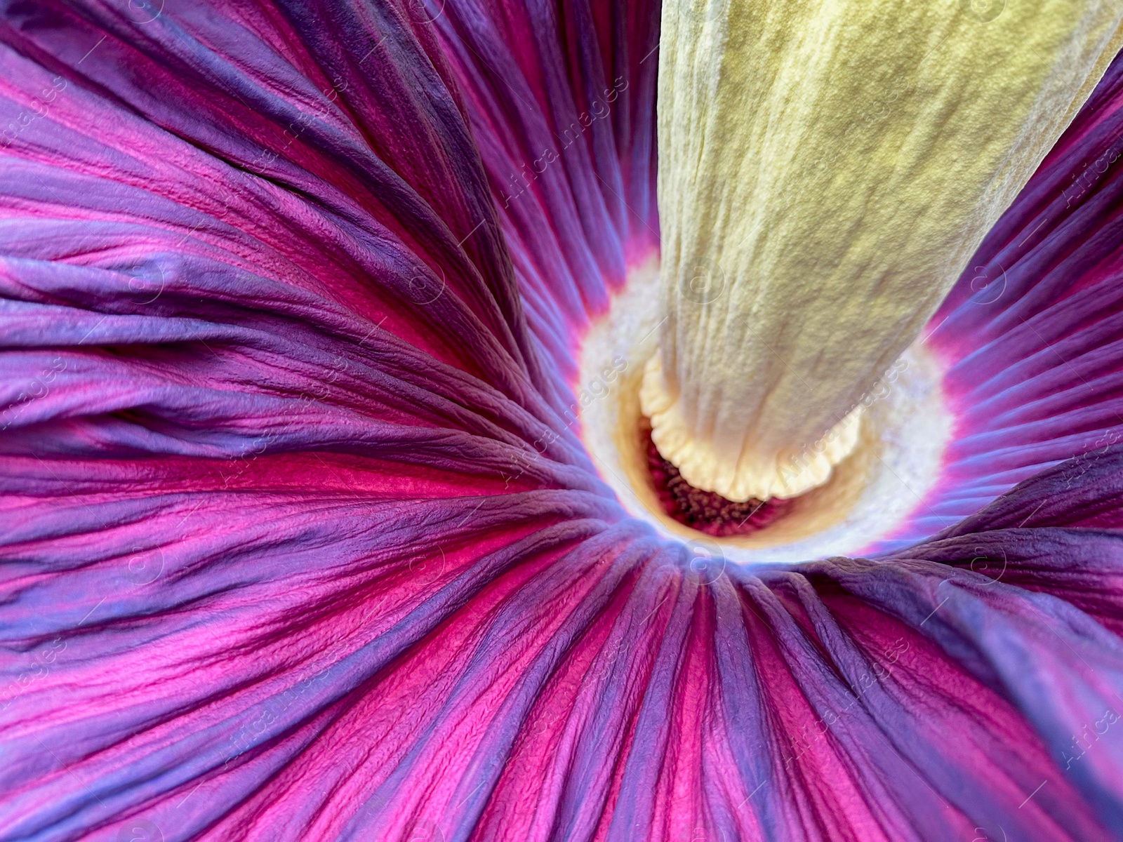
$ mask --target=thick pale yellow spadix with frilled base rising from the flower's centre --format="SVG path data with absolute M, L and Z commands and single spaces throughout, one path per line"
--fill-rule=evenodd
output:
M 665 0 L 667 318 L 641 403 L 690 483 L 825 482 L 1121 18 L 1120 0 Z

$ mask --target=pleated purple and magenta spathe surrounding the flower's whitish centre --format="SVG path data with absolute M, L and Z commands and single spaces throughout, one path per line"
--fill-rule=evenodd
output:
M 1119 838 L 1119 63 L 933 320 L 932 497 L 697 569 L 565 415 L 656 7 L 146 9 L 3 7 L 0 839 Z

